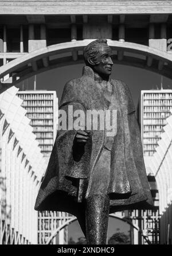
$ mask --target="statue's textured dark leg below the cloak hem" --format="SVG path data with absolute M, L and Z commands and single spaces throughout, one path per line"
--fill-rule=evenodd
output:
M 95 195 L 87 198 L 85 219 L 88 244 L 106 244 L 109 212 L 108 196 Z

